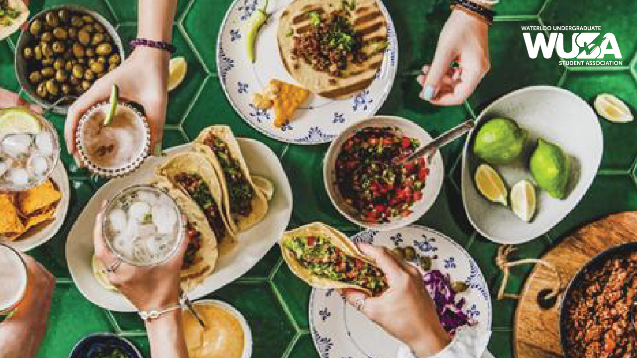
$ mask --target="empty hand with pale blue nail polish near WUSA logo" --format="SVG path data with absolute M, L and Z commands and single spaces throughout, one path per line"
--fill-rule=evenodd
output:
M 489 71 L 489 25 L 462 11 L 453 11 L 440 32 L 431 66 L 417 81 L 420 98 L 441 106 L 462 104 Z M 452 68 L 453 61 L 460 67 Z

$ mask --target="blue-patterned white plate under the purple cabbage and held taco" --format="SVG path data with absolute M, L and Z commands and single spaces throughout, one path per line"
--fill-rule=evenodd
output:
M 478 329 L 490 331 L 492 306 L 487 282 L 478 264 L 454 240 L 423 226 L 393 231 L 362 231 L 350 240 L 388 248 L 411 246 L 419 257 L 430 257 L 431 269 L 449 275 L 451 282 L 468 285 L 469 288 L 457 297 L 465 299 L 462 311 L 476 322 Z M 396 358 L 403 346 L 345 303 L 333 289 L 312 290 L 310 329 L 321 358 Z

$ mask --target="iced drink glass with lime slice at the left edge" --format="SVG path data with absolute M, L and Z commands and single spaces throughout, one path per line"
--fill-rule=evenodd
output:
M 0 190 L 37 187 L 59 159 L 57 133 L 46 118 L 24 108 L 0 110 Z

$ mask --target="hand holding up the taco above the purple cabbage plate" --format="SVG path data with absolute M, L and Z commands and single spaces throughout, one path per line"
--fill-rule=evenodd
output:
M 396 259 L 385 247 L 366 244 L 358 247 L 385 273 L 389 289 L 379 297 L 345 289 L 341 293 L 347 302 L 359 306 L 364 315 L 406 343 L 418 357 L 429 357 L 443 350 L 450 337 L 440 324 L 420 271 Z

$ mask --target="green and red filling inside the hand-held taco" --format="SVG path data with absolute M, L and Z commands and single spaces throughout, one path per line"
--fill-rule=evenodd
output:
M 328 238 L 293 236 L 285 241 L 285 248 L 311 275 L 363 287 L 373 296 L 387 288 L 387 280 L 380 269 L 345 254 Z

